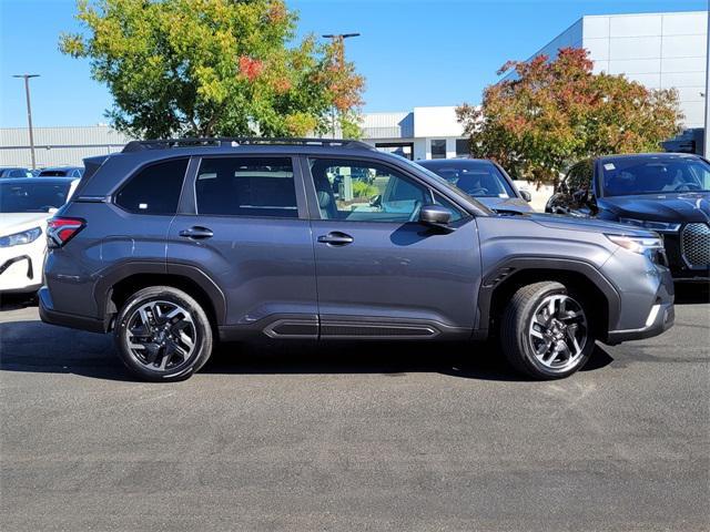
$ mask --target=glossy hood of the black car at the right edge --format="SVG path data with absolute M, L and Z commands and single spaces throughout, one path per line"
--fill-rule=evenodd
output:
M 710 222 L 708 192 L 601 197 L 599 206 L 623 218 L 677 223 Z

